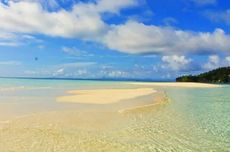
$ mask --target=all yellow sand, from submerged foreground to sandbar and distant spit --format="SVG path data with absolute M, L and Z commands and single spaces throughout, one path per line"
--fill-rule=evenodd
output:
M 0 129 L 0 152 L 99 152 L 99 151 L 189 151 L 199 150 L 202 134 L 190 132 L 194 124 L 164 107 L 164 92 L 154 87 L 219 87 L 196 83 L 132 83 L 132 89 L 68 91 L 57 97 L 63 103 L 108 104 L 132 102 L 141 96 L 154 98 L 148 104 L 119 111 L 53 111 L 4 121 Z M 154 95 L 154 96 L 153 96 Z M 172 118 L 177 119 L 172 119 Z M 191 141 L 189 143 L 188 141 Z M 205 147 L 215 146 L 206 144 Z

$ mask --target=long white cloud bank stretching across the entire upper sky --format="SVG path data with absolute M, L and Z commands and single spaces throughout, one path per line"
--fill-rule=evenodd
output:
M 137 21 L 117 25 L 103 21 L 103 13 L 118 14 L 123 8 L 136 6 L 138 0 L 78 2 L 70 10 L 60 8 L 57 11 L 44 9 L 43 1 L 17 0 L 9 1 L 7 5 L 0 3 L 0 31 L 77 38 L 102 43 L 108 49 L 129 54 L 229 53 L 230 35 L 222 29 L 192 32 Z M 47 5 L 58 5 L 58 1 L 54 0 L 49 3 Z M 205 0 L 202 3 L 211 2 Z M 1 41 L 0 34 L 0 45 L 14 43 Z

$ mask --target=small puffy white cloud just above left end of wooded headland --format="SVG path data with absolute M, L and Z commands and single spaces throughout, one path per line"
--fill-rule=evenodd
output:
M 187 68 L 191 63 L 191 59 L 187 59 L 185 56 L 163 56 L 162 57 L 162 68 L 167 70 L 179 71 Z

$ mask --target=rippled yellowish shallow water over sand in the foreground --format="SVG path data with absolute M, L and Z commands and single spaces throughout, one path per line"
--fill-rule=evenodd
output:
M 206 137 L 195 124 L 164 107 L 106 116 L 55 112 L 11 122 L 0 131 L 0 148 L 3 152 L 227 151 L 224 144 Z

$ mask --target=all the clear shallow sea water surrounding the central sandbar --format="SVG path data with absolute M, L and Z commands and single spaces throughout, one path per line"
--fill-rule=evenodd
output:
M 117 81 L 0 79 L 0 122 L 7 122 L 0 129 L 0 151 L 230 151 L 229 85 L 158 88 L 167 103 L 125 114 L 79 112 L 90 105 L 55 100 L 67 90 L 132 87 Z

